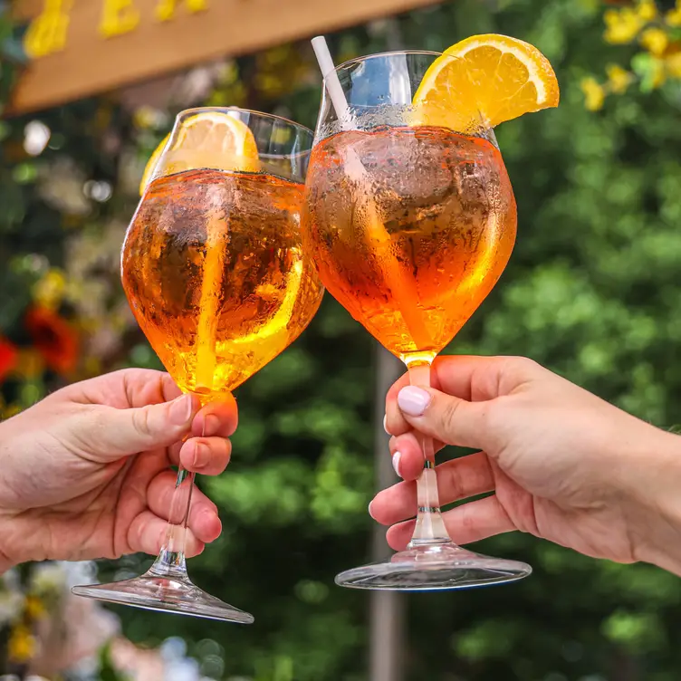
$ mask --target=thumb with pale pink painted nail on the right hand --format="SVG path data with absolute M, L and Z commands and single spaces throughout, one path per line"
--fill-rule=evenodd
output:
M 412 427 L 447 445 L 484 449 L 489 439 L 489 402 L 467 402 L 435 388 L 407 386 L 398 393 L 398 407 Z

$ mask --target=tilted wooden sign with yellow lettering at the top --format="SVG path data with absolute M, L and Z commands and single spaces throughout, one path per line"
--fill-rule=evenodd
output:
M 222 56 L 329 33 L 437 0 L 15 0 L 31 58 L 12 113 Z

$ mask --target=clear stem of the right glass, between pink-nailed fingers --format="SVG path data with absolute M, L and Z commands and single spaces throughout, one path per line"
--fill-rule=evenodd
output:
M 409 362 L 409 382 L 412 386 L 430 388 L 430 362 Z M 424 457 L 423 472 L 417 479 L 417 524 L 408 548 L 451 543 L 440 512 L 435 470 L 435 446 L 433 438 L 417 433 L 418 443 Z

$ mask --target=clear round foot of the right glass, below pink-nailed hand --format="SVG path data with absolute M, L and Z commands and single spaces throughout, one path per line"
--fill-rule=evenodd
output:
M 503 584 L 531 573 L 524 562 L 489 558 L 451 542 L 430 543 L 410 545 L 388 561 L 341 572 L 336 584 L 351 589 L 438 591 Z

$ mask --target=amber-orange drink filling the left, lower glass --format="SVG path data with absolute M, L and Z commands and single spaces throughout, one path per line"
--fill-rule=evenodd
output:
M 123 288 L 183 390 L 233 390 L 317 312 L 302 198 L 301 184 L 280 177 L 205 169 L 148 187 L 123 246 Z

